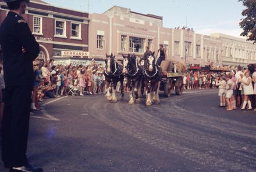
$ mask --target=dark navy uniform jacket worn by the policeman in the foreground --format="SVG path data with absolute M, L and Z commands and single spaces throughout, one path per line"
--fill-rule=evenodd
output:
M 33 60 L 37 58 L 40 49 L 23 17 L 14 12 L 8 13 L 0 27 L 0 43 L 6 87 L 33 86 Z M 22 52 L 22 47 L 26 53 Z

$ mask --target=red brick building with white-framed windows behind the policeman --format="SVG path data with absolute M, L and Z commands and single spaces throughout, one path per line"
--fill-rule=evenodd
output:
M 6 3 L 0 2 L 0 24 L 8 13 Z M 38 58 L 71 57 L 62 52 L 88 52 L 88 13 L 58 8 L 40 0 L 30 1 L 24 19 L 40 44 Z M 87 55 L 88 56 L 88 55 Z M 74 54 L 73 57 L 85 57 Z

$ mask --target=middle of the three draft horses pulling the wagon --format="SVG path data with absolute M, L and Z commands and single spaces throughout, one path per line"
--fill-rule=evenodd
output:
M 127 77 L 127 86 L 130 92 L 129 104 L 140 103 L 143 69 L 138 64 L 138 59 L 135 55 L 123 55 L 123 75 Z

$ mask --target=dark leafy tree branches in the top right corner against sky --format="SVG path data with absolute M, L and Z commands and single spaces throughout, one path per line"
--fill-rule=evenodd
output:
M 239 0 L 243 2 L 246 9 L 243 10 L 240 27 L 243 28 L 241 36 L 247 36 L 247 41 L 254 41 L 256 43 L 256 0 Z

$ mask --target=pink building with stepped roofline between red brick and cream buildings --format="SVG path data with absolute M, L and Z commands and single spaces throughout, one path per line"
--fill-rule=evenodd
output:
M 162 27 L 161 16 L 113 6 L 105 13 L 90 14 L 89 18 L 89 52 L 95 58 L 104 58 L 105 53 L 118 58 L 128 53 L 143 56 L 146 46 L 157 52 L 159 44 L 163 44 L 170 60 L 194 66 L 222 65 L 220 38 Z

